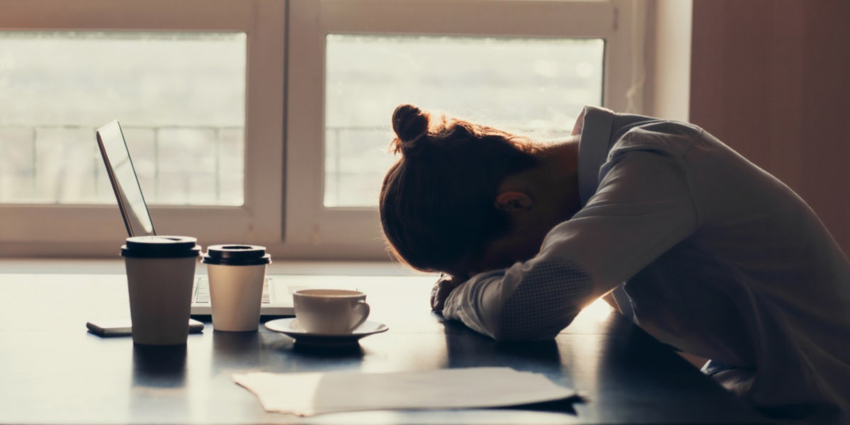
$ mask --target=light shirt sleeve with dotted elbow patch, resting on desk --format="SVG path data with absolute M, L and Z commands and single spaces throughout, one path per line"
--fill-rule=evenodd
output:
M 497 340 L 552 338 L 694 232 L 682 157 L 632 147 L 612 152 L 600 174 L 596 194 L 549 232 L 535 258 L 473 276 L 451 292 L 443 315 Z

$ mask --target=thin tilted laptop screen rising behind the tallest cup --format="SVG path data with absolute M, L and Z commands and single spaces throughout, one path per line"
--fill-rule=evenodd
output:
M 100 156 L 103 156 L 106 173 L 127 226 L 127 235 L 156 235 L 121 124 L 113 121 L 98 128 L 97 138 Z

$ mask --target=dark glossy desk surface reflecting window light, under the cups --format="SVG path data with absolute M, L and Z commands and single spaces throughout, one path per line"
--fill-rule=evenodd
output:
M 428 309 L 433 278 L 335 284 L 367 292 L 390 330 L 345 352 L 305 351 L 261 328 L 207 327 L 186 349 L 150 356 L 129 337 L 86 331 L 126 316 L 122 275 L 0 275 L 0 423 L 755 423 L 759 416 L 617 314 L 583 312 L 553 341 L 496 343 Z M 524 409 L 367 411 L 301 418 L 263 411 L 231 375 L 246 371 L 413 371 L 467 366 L 536 371 L 579 402 Z

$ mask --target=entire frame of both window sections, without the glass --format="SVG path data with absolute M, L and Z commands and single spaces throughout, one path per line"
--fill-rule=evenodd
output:
M 245 204 L 149 208 L 161 235 L 194 235 L 203 246 L 261 244 L 279 259 L 388 259 L 377 208 L 324 207 L 328 33 L 604 38 L 603 105 L 629 112 L 643 105 L 645 0 L 0 0 L 0 5 L 0 31 L 246 32 Z M 0 204 L 0 256 L 116 256 L 126 237 L 118 215 L 115 206 Z

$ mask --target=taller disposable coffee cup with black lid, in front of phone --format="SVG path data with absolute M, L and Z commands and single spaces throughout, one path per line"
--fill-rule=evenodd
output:
M 133 236 L 122 246 L 133 343 L 186 343 L 195 264 L 201 252 L 196 241 L 188 236 Z

